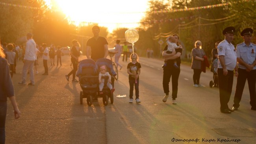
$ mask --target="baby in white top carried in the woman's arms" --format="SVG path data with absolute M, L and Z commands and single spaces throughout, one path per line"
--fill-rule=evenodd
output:
M 174 52 L 175 49 L 177 48 L 181 48 L 181 45 L 180 46 L 177 46 L 177 44 L 175 43 L 175 37 L 173 36 L 170 36 L 170 37 L 167 37 L 167 39 L 165 40 L 167 45 L 168 45 L 168 48 L 167 48 L 167 54 L 172 54 Z M 163 64 L 162 68 L 165 68 L 165 66 L 167 65 L 167 61 L 165 61 L 165 63 Z M 175 68 L 179 68 L 177 63 L 176 63 L 176 60 L 174 60 L 174 65 L 173 65 Z

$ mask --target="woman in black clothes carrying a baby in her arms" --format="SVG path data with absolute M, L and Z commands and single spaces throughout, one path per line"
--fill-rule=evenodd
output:
M 172 36 L 175 38 L 175 43 L 177 44 L 177 46 L 179 46 L 179 36 L 177 34 L 173 34 Z M 180 76 L 180 55 L 182 55 L 182 46 L 176 48 L 174 52 L 172 52 L 172 54 L 167 54 L 167 48 L 168 45 L 165 46 L 165 49 L 162 53 L 162 56 L 166 61 L 166 66 L 163 68 L 163 91 L 165 93 L 165 96 L 163 97 L 163 102 L 166 102 L 167 98 L 169 97 L 169 83 L 172 76 L 172 103 L 176 104 L 178 92 L 178 78 Z M 178 68 L 175 67 L 175 62 Z

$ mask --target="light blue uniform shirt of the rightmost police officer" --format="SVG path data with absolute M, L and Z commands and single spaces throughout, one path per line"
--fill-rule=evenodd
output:
M 241 44 L 237 44 L 236 46 L 237 50 L 237 57 L 241 58 L 245 63 L 252 65 L 252 63 L 255 61 L 256 57 L 256 44 L 250 43 L 249 46 L 245 44 L 245 42 Z M 246 66 L 241 65 L 238 63 L 238 67 L 241 69 L 246 69 Z M 256 69 L 256 66 L 253 67 L 253 70 Z

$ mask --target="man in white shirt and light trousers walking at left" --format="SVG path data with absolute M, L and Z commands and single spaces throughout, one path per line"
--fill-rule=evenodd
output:
M 28 85 L 35 85 L 33 66 L 36 59 L 36 44 L 32 39 L 32 33 L 27 34 L 27 39 L 28 41 L 26 42 L 26 50 L 23 59 L 22 81 L 19 82 L 19 84 L 26 85 L 26 76 L 29 69 L 30 83 L 28 83 Z

